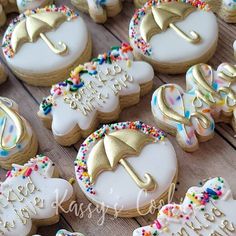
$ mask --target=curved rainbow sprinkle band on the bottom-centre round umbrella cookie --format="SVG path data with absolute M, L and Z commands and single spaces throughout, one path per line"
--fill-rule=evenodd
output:
M 135 121 L 135 122 L 120 122 L 110 125 L 104 125 L 99 130 L 95 131 L 93 134 L 91 134 L 81 145 L 78 156 L 74 162 L 75 165 L 75 173 L 77 176 L 78 181 L 81 181 L 86 191 L 90 194 L 96 194 L 91 182 L 90 182 L 90 176 L 87 172 L 87 161 L 86 161 L 86 155 L 88 151 L 90 150 L 90 147 L 94 145 L 97 141 L 104 138 L 106 134 L 109 134 L 110 132 L 116 131 L 116 130 L 122 130 L 122 129 L 134 129 L 139 130 L 144 134 L 150 135 L 154 138 L 154 142 L 163 141 L 166 137 L 166 134 L 164 131 L 157 129 L 155 127 L 151 127 L 149 125 L 144 124 L 141 121 Z

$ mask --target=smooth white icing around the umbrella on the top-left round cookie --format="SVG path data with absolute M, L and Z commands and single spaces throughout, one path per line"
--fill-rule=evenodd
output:
M 12 30 L 12 26 L 7 29 L 5 36 L 9 30 Z M 45 35 L 54 43 L 64 42 L 68 47 L 67 53 L 55 54 L 39 37 L 34 43 L 24 43 L 13 57 L 4 54 L 8 64 L 15 70 L 27 74 L 52 73 L 72 65 L 88 44 L 88 30 L 80 16 L 63 22 Z M 4 37 L 3 44 L 5 40 Z

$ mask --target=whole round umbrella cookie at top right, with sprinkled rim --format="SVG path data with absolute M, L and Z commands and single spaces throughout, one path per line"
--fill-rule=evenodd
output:
M 212 57 L 218 25 L 204 2 L 150 0 L 135 12 L 129 36 L 138 59 L 159 72 L 177 74 Z

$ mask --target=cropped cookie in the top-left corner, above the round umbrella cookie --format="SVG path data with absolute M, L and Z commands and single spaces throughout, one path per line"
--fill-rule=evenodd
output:
M 0 26 L 6 23 L 6 15 L 11 12 L 24 12 L 52 4 L 52 0 L 4 0 L 0 2 Z

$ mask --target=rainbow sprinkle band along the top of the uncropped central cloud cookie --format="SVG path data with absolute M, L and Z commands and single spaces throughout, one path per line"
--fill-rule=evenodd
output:
M 44 115 L 48 115 L 52 106 L 56 106 L 54 100 L 58 96 L 65 96 L 68 92 L 76 92 L 84 87 L 84 81 L 81 78 L 83 74 L 96 75 L 98 73 L 97 66 L 102 64 L 112 64 L 121 60 L 127 61 L 127 66 L 131 65 L 131 52 L 132 47 L 127 43 L 122 43 L 121 47 L 112 47 L 108 52 L 99 54 L 98 57 L 93 58 L 91 62 L 84 65 L 77 66 L 70 74 L 70 77 L 63 82 L 55 84 L 50 90 L 50 96 L 45 98 L 41 105 L 40 110 Z

